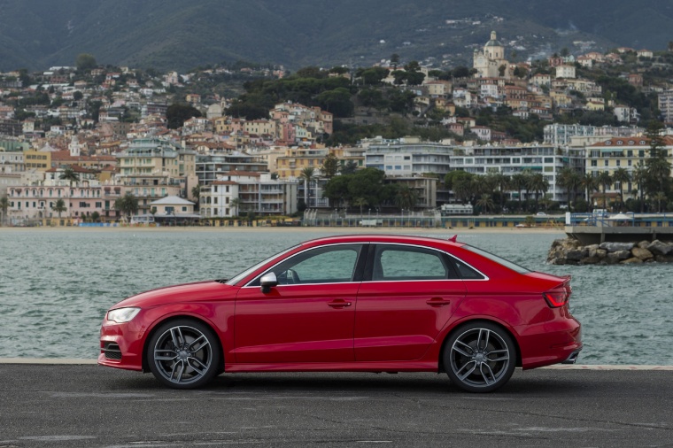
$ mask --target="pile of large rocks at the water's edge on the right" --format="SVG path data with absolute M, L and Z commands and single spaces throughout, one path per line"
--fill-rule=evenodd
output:
M 617 265 L 673 263 L 673 243 L 600 243 L 583 246 L 574 238 L 555 240 L 547 261 L 553 265 Z

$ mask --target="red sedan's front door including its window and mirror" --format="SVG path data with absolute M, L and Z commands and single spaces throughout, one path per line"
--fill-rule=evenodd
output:
M 299 252 L 269 269 L 278 286 L 259 278 L 236 297 L 236 363 L 349 362 L 360 288 L 363 244 Z

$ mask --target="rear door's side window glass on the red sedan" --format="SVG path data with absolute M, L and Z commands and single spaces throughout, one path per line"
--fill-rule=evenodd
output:
M 373 281 L 445 280 L 454 278 L 445 254 L 413 246 L 376 246 Z

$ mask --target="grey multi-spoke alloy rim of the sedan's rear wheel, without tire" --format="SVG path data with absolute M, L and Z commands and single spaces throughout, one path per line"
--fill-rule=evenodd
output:
M 498 387 L 512 375 L 509 344 L 491 328 L 470 328 L 461 333 L 449 356 L 453 375 L 471 390 Z

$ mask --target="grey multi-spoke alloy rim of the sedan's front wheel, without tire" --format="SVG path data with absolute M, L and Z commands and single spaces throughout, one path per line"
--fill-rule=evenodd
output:
M 156 371 L 176 385 L 198 382 L 209 375 L 213 367 L 213 344 L 194 327 L 181 325 L 166 329 L 153 351 Z

